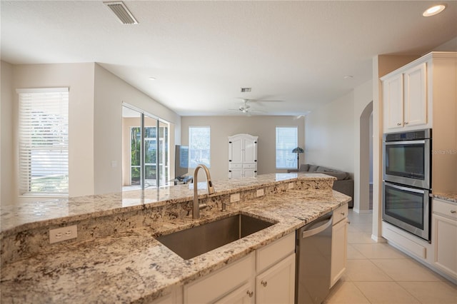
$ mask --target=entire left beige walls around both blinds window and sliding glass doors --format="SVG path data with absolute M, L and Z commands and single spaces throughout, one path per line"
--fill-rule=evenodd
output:
M 170 121 L 171 137 L 181 136 L 180 116 L 98 64 L 2 62 L 1 68 L 1 203 L 14 203 L 19 194 L 16 88 L 69 87 L 71 197 L 121 191 L 123 102 Z

